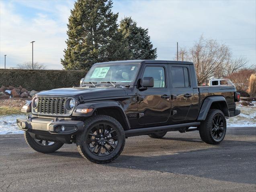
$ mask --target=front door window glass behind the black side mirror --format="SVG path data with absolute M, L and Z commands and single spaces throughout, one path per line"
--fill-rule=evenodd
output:
M 164 75 L 163 67 L 146 67 L 143 77 L 153 77 L 154 78 L 154 88 L 164 88 L 165 87 L 165 75 Z

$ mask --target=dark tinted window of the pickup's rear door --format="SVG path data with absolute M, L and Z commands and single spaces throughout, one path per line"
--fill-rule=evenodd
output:
M 172 86 L 175 88 L 189 87 L 188 68 L 172 67 Z

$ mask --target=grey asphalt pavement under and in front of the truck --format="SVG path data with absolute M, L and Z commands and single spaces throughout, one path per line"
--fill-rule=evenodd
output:
M 93 164 L 75 144 L 52 154 L 27 146 L 23 135 L 0 136 L 0 190 L 28 191 L 256 191 L 256 127 L 228 128 L 218 146 L 199 132 L 168 132 L 126 140 L 110 164 Z

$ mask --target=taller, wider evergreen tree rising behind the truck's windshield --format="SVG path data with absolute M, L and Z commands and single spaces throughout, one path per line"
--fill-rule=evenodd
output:
M 96 62 L 121 60 L 122 36 L 112 0 L 78 0 L 68 20 L 67 48 L 61 64 L 65 69 L 88 70 Z

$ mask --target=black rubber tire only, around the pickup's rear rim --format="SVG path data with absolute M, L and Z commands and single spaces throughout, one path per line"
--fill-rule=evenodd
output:
M 223 135 L 219 139 L 215 139 L 212 134 L 213 118 L 216 115 L 222 116 L 224 121 Z M 207 144 L 212 144 L 212 145 L 220 144 L 221 141 L 223 141 L 226 134 L 226 130 L 227 130 L 226 118 L 223 112 L 219 109 L 210 109 L 206 119 L 203 122 L 201 122 L 199 126 L 199 134 L 203 142 Z

